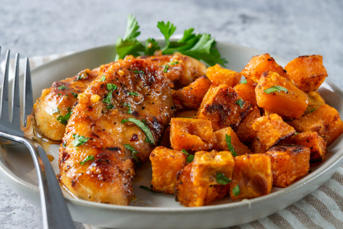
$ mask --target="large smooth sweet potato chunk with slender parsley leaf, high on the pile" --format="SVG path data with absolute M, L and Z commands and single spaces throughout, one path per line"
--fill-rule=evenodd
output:
M 263 72 L 255 88 L 257 105 L 278 115 L 300 118 L 308 95 L 276 72 Z

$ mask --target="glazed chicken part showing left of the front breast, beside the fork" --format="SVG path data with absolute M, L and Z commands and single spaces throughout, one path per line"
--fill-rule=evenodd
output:
M 52 83 L 51 88 L 44 89 L 34 104 L 38 132 L 51 140 L 62 140 L 67 121 L 64 121 L 63 118 L 57 119 L 59 116 L 63 117 L 69 113 L 77 101 L 78 94 L 84 92 L 88 85 L 112 64 L 114 62 L 101 65 L 93 70 L 85 69 L 76 76 L 56 81 Z

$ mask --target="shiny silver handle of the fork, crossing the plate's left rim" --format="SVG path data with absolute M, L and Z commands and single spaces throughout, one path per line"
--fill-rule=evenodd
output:
M 43 214 L 43 228 L 75 228 L 60 185 L 44 149 L 30 139 L 23 139 L 23 144 L 31 152 L 38 177 L 40 205 Z

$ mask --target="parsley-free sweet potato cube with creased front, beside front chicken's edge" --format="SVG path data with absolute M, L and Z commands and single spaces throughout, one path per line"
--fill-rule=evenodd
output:
M 171 118 L 171 148 L 180 150 L 209 150 L 216 142 L 211 122 L 197 118 Z

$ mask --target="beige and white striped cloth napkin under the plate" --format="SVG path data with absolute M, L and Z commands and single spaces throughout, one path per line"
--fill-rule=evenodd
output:
M 31 68 L 37 67 L 48 61 L 69 55 L 69 53 L 54 54 L 49 56 L 30 57 Z M 21 72 L 24 69 L 24 59 L 20 60 Z M 0 63 L 4 72 L 5 62 Z M 14 60 L 10 61 L 10 78 L 13 76 Z M 2 78 L 2 75 L 1 75 Z M 277 204 L 277 203 L 276 203 Z M 102 229 L 101 227 L 76 223 L 78 229 Z M 334 229 L 343 228 L 343 167 L 317 190 L 305 196 L 298 202 L 277 211 L 265 218 L 247 224 L 229 227 L 230 229 L 269 229 L 269 228 L 318 228 Z

